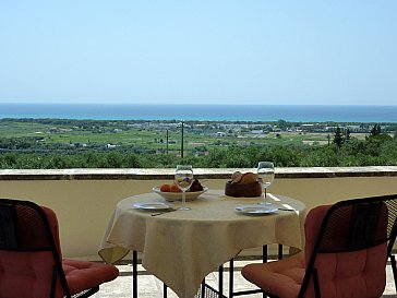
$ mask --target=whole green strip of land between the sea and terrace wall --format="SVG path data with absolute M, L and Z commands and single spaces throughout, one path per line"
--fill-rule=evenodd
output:
M 397 165 L 396 123 L 184 123 L 194 167 Z M 170 168 L 181 160 L 178 121 L 1 119 L 0 168 Z

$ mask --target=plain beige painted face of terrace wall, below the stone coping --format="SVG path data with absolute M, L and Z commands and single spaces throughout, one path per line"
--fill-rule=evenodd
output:
M 97 259 L 97 248 L 122 199 L 151 192 L 169 180 L 1 180 L 0 198 L 31 200 L 53 208 L 60 224 L 64 257 Z M 206 180 L 224 189 L 225 179 Z M 344 199 L 397 193 L 397 177 L 276 179 L 273 193 L 304 202 L 308 208 Z

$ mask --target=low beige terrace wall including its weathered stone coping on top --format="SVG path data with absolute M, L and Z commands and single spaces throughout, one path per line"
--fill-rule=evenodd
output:
M 254 171 L 194 172 L 210 189 L 224 189 L 234 170 Z M 0 198 L 31 200 L 53 208 L 63 254 L 95 260 L 115 205 L 172 178 L 173 169 L 0 170 Z M 300 200 L 308 208 L 344 199 L 397 193 L 397 167 L 277 168 L 269 191 Z

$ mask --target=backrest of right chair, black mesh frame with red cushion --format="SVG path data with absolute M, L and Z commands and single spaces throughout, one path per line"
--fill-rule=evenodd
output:
M 381 297 L 396 239 L 397 194 L 338 202 L 305 219 L 306 273 L 299 297 Z

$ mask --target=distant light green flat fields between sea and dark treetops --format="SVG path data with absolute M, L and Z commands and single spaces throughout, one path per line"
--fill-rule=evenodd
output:
M 205 152 L 212 147 L 229 145 L 326 145 L 332 132 L 272 131 L 272 124 L 189 123 L 183 127 L 183 145 L 187 152 Z M 168 134 L 168 142 L 167 142 Z M 359 140 L 365 133 L 351 133 Z M 134 122 L 84 120 L 46 123 L 9 120 L 0 122 L 1 139 L 35 139 L 37 145 L 115 148 L 135 147 L 154 151 L 180 151 L 182 128 L 172 122 Z

